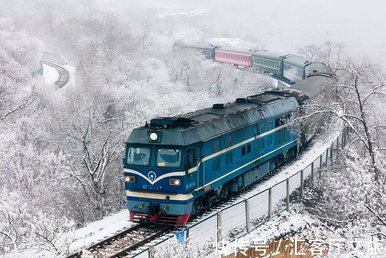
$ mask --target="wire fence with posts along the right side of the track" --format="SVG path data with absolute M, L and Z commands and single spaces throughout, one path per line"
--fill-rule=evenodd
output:
M 170 240 L 173 237 L 177 237 L 180 242 L 189 238 L 190 243 L 194 243 L 194 246 L 200 249 L 208 246 L 209 243 L 215 243 L 216 238 L 232 239 L 240 233 L 247 234 L 256 229 L 274 215 L 289 210 L 293 203 L 303 198 L 304 194 L 311 188 L 312 183 L 322 177 L 321 167 L 327 168 L 331 162 L 337 159 L 339 149 L 345 145 L 346 135 L 347 129 L 319 157 L 298 173 L 252 197 L 218 210 L 217 214 L 181 229 L 181 232 L 176 235 L 168 236 L 132 257 L 166 257 L 165 255 L 170 255 L 170 249 L 173 249 L 173 252 L 178 249 L 176 246 L 170 246 Z

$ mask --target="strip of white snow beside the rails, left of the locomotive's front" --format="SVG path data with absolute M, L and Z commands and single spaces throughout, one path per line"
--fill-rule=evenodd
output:
M 69 246 L 71 253 L 79 251 L 81 248 L 88 247 L 93 243 L 97 243 L 107 237 L 123 231 L 126 228 L 135 225 L 129 222 L 129 211 L 122 210 L 117 214 L 112 214 L 101 220 L 91 222 L 85 227 L 77 229 L 70 233 L 69 236 L 74 237 L 73 243 Z

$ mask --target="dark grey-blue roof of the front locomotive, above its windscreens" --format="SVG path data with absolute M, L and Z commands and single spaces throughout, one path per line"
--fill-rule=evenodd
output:
M 150 126 L 136 128 L 127 144 L 190 145 L 256 123 L 264 118 L 285 113 L 298 105 L 294 97 L 258 94 L 237 99 L 234 103 L 215 104 L 207 108 L 172 118 L 159 117 Z M 167 125 L 164 128 L 163 125 Z M 149 142 L 148 132 L 159 132 L 161 142 Z

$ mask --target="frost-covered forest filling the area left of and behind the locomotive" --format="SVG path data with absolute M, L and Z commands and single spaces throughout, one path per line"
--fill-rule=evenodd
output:
M 2 255 L 63 254 L 70 229 L 124 209 L 133 128 L 273 87 L 267 75 L 184 48 L 201 41 L 194 17 L 134 21 L 86 2 L 0 5 Z M 32 77 L 42 50 L 76 67 L 63 89 Z

